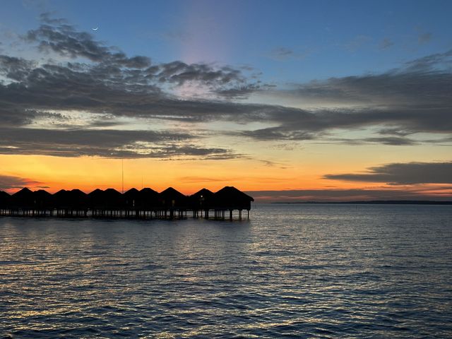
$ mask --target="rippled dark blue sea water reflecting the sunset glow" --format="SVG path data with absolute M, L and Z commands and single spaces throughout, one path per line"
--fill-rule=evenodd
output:
M 8 338 L 452 338 L 452 206 L 0 218 Z

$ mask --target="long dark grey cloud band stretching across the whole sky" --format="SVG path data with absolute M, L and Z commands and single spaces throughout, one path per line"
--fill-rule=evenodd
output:
M 448 54 L 432 58 L 440 62 L 446 57 Z M 431 60 L 420 63 L 432 65 Z M 30 68 L 27 61 L 11 57 L 0 59 L 0 64 L 4 73 L 17 81 L 0 85 L 0 102 L 3 104 L 0 116 L 6 126 L 30 124 L 42 111 L 78 109 L 93 114 L 108 112 L 119 117 L 192 122 L 265 120 L 275 125 L 237 133 L 256 140 L 312 140 L 322 138 L 327 131 L 334 129 L 366 126 L 381 126 L 384 134 L 396 130 L 405 131 L 406 135 L 452 131 L 449 114 L 452 97 L 448 91 L 452 74 L 446 71 L 396 70 L 377 75 L 331 78 L 297 85 L 294 90 L 284 93 L 316 105 L 331 102 L 342 106 L 308 110 L 215 100 L 178 100 L 156 85 L 141 81 L 140 72 L 119 71 L 114 66 L 69 63 L 67 66 L 44 64 Z M 172 78 L 180 67 L 185 66 L 174 64 L 166 69 L 165 78 Z M 205 76 L 207 82 L 215 78 L 208 73 Z M 182 80 L 174 78 L 173 81 L 178 83 Z M 238 97 L 254 90 L 257 87 L 244 85 L 217 92 L 224 97 Z M 378 139 L 374 138 L 374 141 Z M 387 138 L 381 141 L 391 144 Z M 399 139 L 396 143 L 400 142 Z

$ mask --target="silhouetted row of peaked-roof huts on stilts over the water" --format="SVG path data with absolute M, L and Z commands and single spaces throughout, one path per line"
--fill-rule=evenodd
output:
M 208 211 L 215 211 L 215 218 L 225 218 L 225 211 L 251 209 L 254 198 L 244 194 L 233 186 L 225 186 L 217 192 L 208 189 L 185 196 L 176 189 L 169 187 L 160 193 L 150 188 L 129 189 L 121 192 L 116 189 L 95 189 L 85 194 L 80 189 L 61 189 L 54 194 L 39 189 L 31 191 L 20 189 L 14 194 L 0 191 L 0 215 L 57 215 L 57 216 L 91 216 L 100 217 L 150 217 L 182 218 L 187 210 L 197 217 L 208 218 Z

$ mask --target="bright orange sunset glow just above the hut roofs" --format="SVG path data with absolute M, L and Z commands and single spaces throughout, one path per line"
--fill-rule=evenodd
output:
M 2 174 L 23 179 L 30 189 L 46 189 L 55 193 L 60 189 L 81 189 L 89 193 L 96 188 L 121 191 L 121 159 L 95 157 L 50 157 L 42 155 L 1 155 L 5 164 Z M 224 186 L 235 186 L 242 191 L 291 191 L 350 189 L 400 190 L 381 183 L 344 182 L 323 179 L 324 164 L 306 162 L 299 166 L 268 165 L 258 160 L 124 160 L 124 191 L 135 187 L 150 187 L 163 191 L 172 186 L 183 194 L 194 194 L 207 188 L 218 191 Z M 357 168 L 351 162 L 335 167 L 335 172 L 350 172 Z M 452 188 L 444 185 L 417 185 L 403 187 L 408 192 L 420 192 L 439 198 L 452 197 Z M 5 189 L 8 193 L 18 191 Z M 283 194 L 283 192 L 281 192 Z M 265 197 L 261 196 L 261 201 Z M 366 196 L 362 197 L 363 199 Z M 309 196 L 304 197 L 309 200 Z

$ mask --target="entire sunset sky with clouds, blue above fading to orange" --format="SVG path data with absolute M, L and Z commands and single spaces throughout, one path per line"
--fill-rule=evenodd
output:
M 0 190 L 452 200 L 451 1 L 0 3 Z

